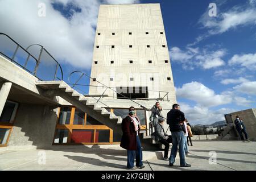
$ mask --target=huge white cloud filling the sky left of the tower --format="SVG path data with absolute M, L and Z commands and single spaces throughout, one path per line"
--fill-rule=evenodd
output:
M 46 17 L 39 17 L 40 0 L 0 1 L 0 32 L 10 35 L 26 48 L 30 44 L 42 44 L 57 61 L 68 63 L 76 68 L 90 69 L 97 25 L 98 9 L 101 3 L 114 1 L 90 0 L 46 0 Z M 138 1 L 115 1 L 115 3 Z M 63 3 L 79 8 L 72 9 L 65 18 L 60 11 L 53 9 L 52 3 Z

